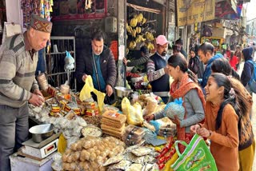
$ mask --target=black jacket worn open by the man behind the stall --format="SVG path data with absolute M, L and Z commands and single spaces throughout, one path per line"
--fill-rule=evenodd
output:
M 91 45 L 90 48 L 85 48 L 78 54 L 76 59 L 75 77 L 78 81 L 78 91 L 82 89 L 85 84 L 82 82 L 82 75 L 92 75 L 94 71 L 94 61 Z M 114 56 L 109 48 L 104 46 L 102 54 L 100 54 L 100 64 L 102 70 L 102 77 L 104 78 L 106 85 L 111 85 L 114 88 L 117 78 L 117 66 L 114 61 Z

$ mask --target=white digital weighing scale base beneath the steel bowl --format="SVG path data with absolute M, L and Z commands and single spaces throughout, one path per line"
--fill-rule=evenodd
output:
M 36 143 L 31 139 L 22 143 L 22 154 L 34 159 L 43 159 L 58 149 L 58 137 L 60 133 L 54 133 L 46 140 Z

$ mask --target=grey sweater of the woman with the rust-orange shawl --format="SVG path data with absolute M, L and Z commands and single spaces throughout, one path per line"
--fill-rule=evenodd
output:
M 169 101 L 174 101 L 173 97 L 169 98 Z M 198 97 L 198 91 L 196 89 L 190 89 L 184 97 L 185 107 L 186 107 L 186 119 L 181 121 L 180 127 L 186 127 L 186 133 L 190 133 L 190 125 L 194 125 L 205 118 L 205 112 L 202 106 L 202 101 Z M 160 119 L 164 117 L 163 111 L 154 113 L 154 119 Z

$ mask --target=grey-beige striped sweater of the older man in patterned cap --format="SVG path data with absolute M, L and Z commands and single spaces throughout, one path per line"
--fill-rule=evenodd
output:
M 30 91 L 38 89 L 37 63 L 38 52 L 30 57 L 23 34 L 6 39 L 0 48 L 0 105 L 19 108 L 30 99 Z

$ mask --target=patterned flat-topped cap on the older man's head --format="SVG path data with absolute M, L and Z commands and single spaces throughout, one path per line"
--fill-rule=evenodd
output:
M 49 22 L 46 18 L 41 18 L 36 14 L 32 14 L 30 19 L 30 26 L 34 30 L 50 33 L 53 23 Z

